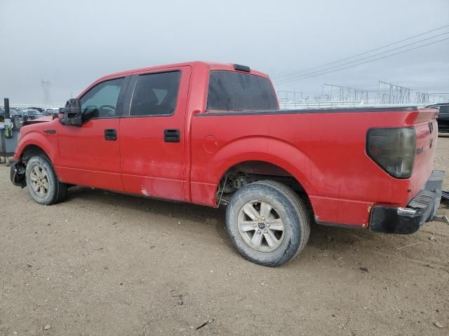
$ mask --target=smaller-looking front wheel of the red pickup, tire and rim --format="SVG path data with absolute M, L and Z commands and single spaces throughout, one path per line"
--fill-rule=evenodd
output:
M 40 171 L 43 176 L 39 181 L 35 181 L 36 176 L 39 178 L 36 171 Z M 25 177 L 29 195 L 39 204 L 56 204 L 64 200 L 67 195 L 67 185 L 58 180 L 53 165 L 44 155 L 35 155 L 27 161 Z M 39 183 L 40 186 L 38 186 Z

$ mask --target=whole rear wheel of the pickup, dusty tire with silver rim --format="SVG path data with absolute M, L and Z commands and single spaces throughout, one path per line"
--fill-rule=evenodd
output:
M 226 227 L 248 260 L 278 266 L 295 258 L 310 235 L 304 202 L 287 186 L 257 181 L 240 188 L 227 206 Z

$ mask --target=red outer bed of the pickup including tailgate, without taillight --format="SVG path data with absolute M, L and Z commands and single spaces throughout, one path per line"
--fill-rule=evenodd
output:
M 229 167 L 263 158 L 300 182 L 316 221 L 366 226 L 371 207 L 403 207 L 429 178 L 435 115 L 417 106 L 199 113 L 192 118 L 192 201 L 213 205 L 215 186 Z M 372 127 L 416 127 L 422 151 L 410 179 L 389 176 L 368 157 Z M 215 141 L 212 151 L 199 150 L 205 141 Z

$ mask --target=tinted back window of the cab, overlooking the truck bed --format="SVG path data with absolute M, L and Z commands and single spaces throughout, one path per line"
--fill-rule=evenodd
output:
M 267 78 L 234 71 L 210 71 L 208 110 L 277 110 L 272 83 Z

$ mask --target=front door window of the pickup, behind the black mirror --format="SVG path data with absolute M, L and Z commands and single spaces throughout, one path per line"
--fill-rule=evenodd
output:
M 122 82 L 123 78 L 107 80 L 84 94 L 80 99 L 83 120 L 115 117 Z

